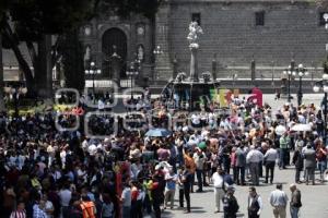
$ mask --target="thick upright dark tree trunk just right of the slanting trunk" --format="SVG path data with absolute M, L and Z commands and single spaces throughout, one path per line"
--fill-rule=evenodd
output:
M 37 95 L 51 101 L 52 99 L 52 64 L 51 64 L 51 35 L 43 35 L 38 41 L 38 57 L 34 73 Z

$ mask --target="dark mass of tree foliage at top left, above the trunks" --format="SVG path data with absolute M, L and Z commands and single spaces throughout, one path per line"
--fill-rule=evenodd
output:
M 79 27 L 91 17 L 94 5 L 93 0 L 12 0 L 10 15 L 20 37 L 37 39 L 42 34 L 62 34 Z

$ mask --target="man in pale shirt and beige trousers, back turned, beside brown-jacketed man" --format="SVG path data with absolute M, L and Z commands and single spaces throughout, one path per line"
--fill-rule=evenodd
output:
M 274 218 L 285 218 L 285 207 L 289 197 L 282 191 L 282 184 L 277 184 L 277 189 L 270 193 L 269 202 L 273 207 Z

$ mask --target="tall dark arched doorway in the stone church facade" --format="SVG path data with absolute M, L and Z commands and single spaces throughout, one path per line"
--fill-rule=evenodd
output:
M 116 49 L 114 48 L 116 47 Z M 127 59 L 127 36 L 119 28 L 107 29 L 102 37 L 102 51 L 103 51 L 103 72 L 104 75 L 114 78 L 114 73 L 110 64 L 110 57 L 116 50 L 117 55 L 121 58 L 121 69 L 119 77 L 126 77 L 126 59 Z M 119 78 L 118 78 L 119 80 Z

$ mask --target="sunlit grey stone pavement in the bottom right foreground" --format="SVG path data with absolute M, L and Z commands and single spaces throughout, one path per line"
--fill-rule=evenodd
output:
M 263 184 L 260 183 L 260 186 L 256 186 L 257 193 L 261 196 L 263 202 L 263 210 L 261 213 L 262 218 L 273 217 L 272 208 L 269 204 L 270 192 L 276 189 L 276 184 L 282 183 L 283 191 L 288 194 L 289 198 L 291 192 L 289 186 L 294 181 L 294 167 L 290 167 L 286 170 L 279 170 L 278 167 L 274 169 L 274 180 L 273 184 Z M 303 174 L 303 173 L 302 173 Z M 316 178 L 319 175 L 316 174 Z M 197 185 L 195 185 L 197 189 Z M 306 185 L 297 184 L 297 187 L 302 192 L 302 203 L 303 207 L 301 208 L 302 218 L 327 218 L 328 217 L 328 185 L 327 183 L 321 184 L 317 181 L 316 185 Z M 195 189 L 195 190 L 196 190 Z M 223 217 L 222 213 L 214 214 L 215 202 L 213 196 L 213 187 L 204 187 L 202 193 L 191 193 L 191 213 L 184 214 L 183 209 L 177 208 L 178 206 L 178 194 L 175 197 L 175 208 L 173 210 L 166 209 L 163 213 L 164 218 L 178 217 L 178 218 L 196 218 L 196 217 L 206 217 L 206 218 L 221 218 Z M 239 204 L 239 217 L 247 216 L 247 197 L 248 197 L 248 186 L 236 186 L 235 196 Z M 286 208 L 288 218 L 290 217 L 289 206 Z

